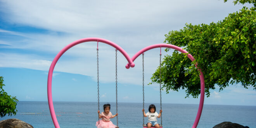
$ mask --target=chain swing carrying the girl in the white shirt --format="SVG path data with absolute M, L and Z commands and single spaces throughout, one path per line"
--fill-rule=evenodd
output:
M 161 49 L 160 49 L 161 51 Z M 161 94 L 161 52 L 160 52 L 160 66 L 159 66 L 159 78 L 160 78 L 160 110 L 162 110 L 162 94 Z M 142 54 L 142 90 L 143 90 L 143 109 L 144 109 L 144 53 Z M 142 112 L 143 113 L 143 112 Z M 163 112 L 162 112 L 163 113 Z M 162 113 L 161 113 L 161 125 L 160 128 L 163 128 L 162 125 Z M 143 128 L 147 128 L 147 125 L 144 123 L 144 115 L 143 115 Z M 151 128 L 156 128 L 155 126 L 151 126 Z

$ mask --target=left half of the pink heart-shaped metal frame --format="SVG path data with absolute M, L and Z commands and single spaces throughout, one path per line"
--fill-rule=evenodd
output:
M 133 63 L 133 61 L 131 61 L 130 56 L 125 52 L 125 50 L 123 50 L 123 48 L 121 48 L 119 45 L 106 40 L 106 39 L 102 39 L 102 38 L 83 38 L 80 40 L 77 40 L 75 42 L 70 43 L 69 45 L 67 45 L 66 47 L 64 47 L 54 58 L 54 60 L 52 61 L 52 64 L 50 66 L 49 72 L 48 72 L 48 81 L 47 81 L 47 95 L 48 95 L 48 105 L 49 105 L 49 109 L 50 109 L 50 113 L 52 116 L 52 121 L 54 123 L 55 128 L 60 128 L 59 123 L 57 121 L 56 115 L 55 115 L 55 111 L 54 111 L 54 106 L 53 106 L 53 102 L 52 102 L 52 73 L 54 71 L 54 67 L 57 63 L 57 61 L 59 60 L 59 58 L 61 57 L 61 55 L 63 55 L 69 48 L 78 45 L 80 43 L 83 42 L 102 42 L 102 43 L 106 43 L 108 45 L 111 45 L 112 47 L 116 48 L 117 50 L 119 50 L 127 59 L 127 61 L 129 62 L 129 64 L 131 64 L 131 67 L 134 67 L 135 64 Z M 98 47 L 97 47 L 98 48 Z

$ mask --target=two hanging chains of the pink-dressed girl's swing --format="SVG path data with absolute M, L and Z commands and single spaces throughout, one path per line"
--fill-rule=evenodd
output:
M 98 110 L 100 110 L 100 97 L 99 97 L 99 42 L 97 44 L 97 85 L 98 85 Z M 118 113 L 118 103 L 117 103 L 117 49 L 116 49 L 116 113 Z M 100 118 L 98 117 L 98 121 Z M 116 128 L 118 126 L 118 115 L 116 116 Z

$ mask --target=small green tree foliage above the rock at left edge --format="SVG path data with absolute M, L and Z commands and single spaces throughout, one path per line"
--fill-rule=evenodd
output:
M 8 116 L 12 116 L 12 114 L 16 115 L 16 105 L 19 100 L 16 97 L 12 97 L 7 95 L 3 90 L 3 76 L 0 76 L 0 116 L 4 117 L 6 114 Z

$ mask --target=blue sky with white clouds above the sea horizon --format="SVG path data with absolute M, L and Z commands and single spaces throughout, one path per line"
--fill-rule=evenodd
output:
M 243 6 L 232 0 L 0 0 L 0 76 L 3 89 L 19 101 L 47 101 L 47 75 L 57 53 L 81 38 L 99 37 L 132 57 L 140 49 L 163 43 L 169 31 L 186 23 L 223 20 Z M 97 102 L 97 42 L 67 50 L 52 80 L 53 101 Z M 162 50 L 163 51 L 163 50 Z M 171 55 L 173 50 L 162 52 Z M 142 57 L 135 67 L 118 52 L 118 102 L 142 102 Z M 159 49 L 145 52 L 145 102 L 159 103 L 159 85 L 147 85 L 159 66 Z M 115 48 L 99 43 L 100 102 L 115 102 Z M 204 104 L 256 106 L 256 90 L 240 83 L 210 90 Z M 199 104 L 185 90 L 162 91 L 162 102 Z M 200 97 L 200 96 L 199 96 Z

